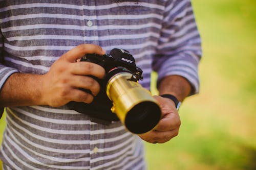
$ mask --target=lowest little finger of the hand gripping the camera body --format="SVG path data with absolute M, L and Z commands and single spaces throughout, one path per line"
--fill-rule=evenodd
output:
M 66 98 L 69 101 L 84 102 L 84 103 L 92 103 L 94 99 L 92 94 L 84 92 L 79 89 L 75 89 L 75 88 L 70 90 L 70 93 L 67 94 Z

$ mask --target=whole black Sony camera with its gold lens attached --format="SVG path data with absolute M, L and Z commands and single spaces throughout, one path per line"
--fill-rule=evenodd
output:
M 150 91 L 138 83 L 143 80 L 142 70 L 129 51 L 114 48 L 102 56 L 87 54 L 80 62 L 99 64 L 106 75 L 103 79 L 91 76 L 100 84 L 100 92 L 92 103 L 70 102 L 70 109 L 105 125 L 121 120 L 127 130 L 136 134 L 148 132 L 158 124 L 160 107 Z M 91 93 L 88 89 L 81 90 Z

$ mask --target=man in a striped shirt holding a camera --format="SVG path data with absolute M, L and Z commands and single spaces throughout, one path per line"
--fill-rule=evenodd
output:
M 100 86 L 88 75 L 105 75 L 97 64 L 76 61 L 113 48 L 133 54 L 143 87 L 150 88 L 154 69 L 159 95 L 182 102 L 197 93 L 201 47 L 190 1 L 0 1 L 0 7 L 4 169 L 145 169 L 141 139 L 163 143 L 178 134 L 174 99 L 154 96 L 161 120 L 140 135 L 120 122 L 94 123 L 66 104 L 91 103 Z

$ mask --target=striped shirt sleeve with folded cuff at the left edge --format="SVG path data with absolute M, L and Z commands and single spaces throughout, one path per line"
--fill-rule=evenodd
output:
M 0 30 L 0 91 L 5 84 L 6 80 L 11 74 L 18 72 L 17 69 L 5 65 L 4 60 L 4 36 Z M 0 107 L 0 118 L 3 114 L 4 108 Z

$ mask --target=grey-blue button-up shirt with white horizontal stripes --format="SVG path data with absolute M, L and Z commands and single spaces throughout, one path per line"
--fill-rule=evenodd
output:
M 201 40 L 189 0 L 1 1 L 0 89 L 14 72 L 45 74 L 71 48 L 93 43 L 128 50 L 150 88 L 180 75 L 199 89 Z M 1 159 L 5 169 L 145 169 L 142 140 L 120 122 L 96 124 L 67 106 L 11 107 Z

